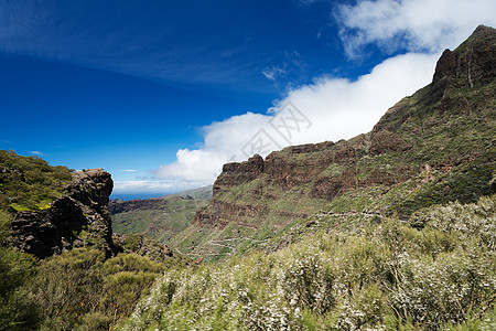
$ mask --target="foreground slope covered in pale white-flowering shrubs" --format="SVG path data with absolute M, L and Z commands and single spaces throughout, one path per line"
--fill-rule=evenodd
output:
M 493 330 L 496 195 L 411 218 L 322 216 L 276 253 L 170 270 L 123 329 Z

